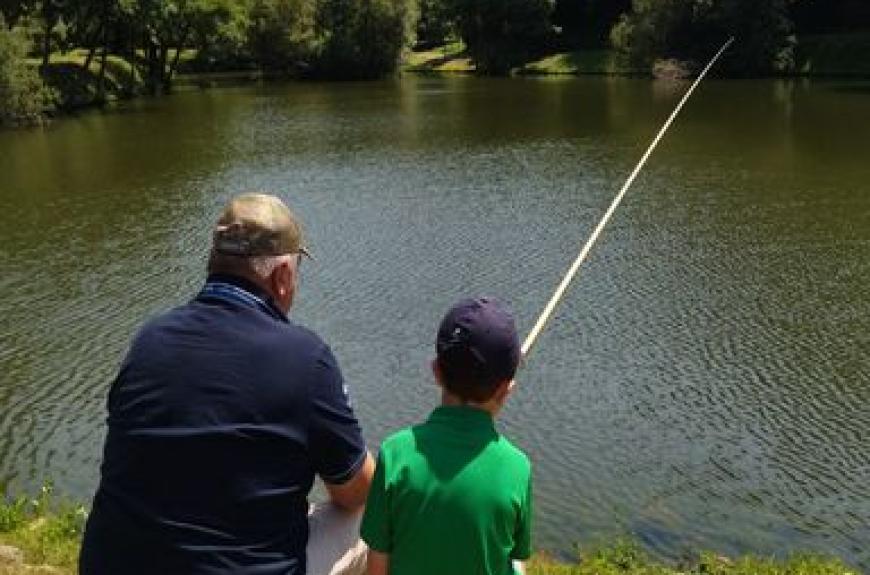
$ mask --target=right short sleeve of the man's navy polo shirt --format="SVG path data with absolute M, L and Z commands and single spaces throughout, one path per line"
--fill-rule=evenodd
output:
M 366 446 L 338 363 L 328 347 L 317 360 L 310 386 L 309 449 L 314 470 L 340 485 L 365 462 Z

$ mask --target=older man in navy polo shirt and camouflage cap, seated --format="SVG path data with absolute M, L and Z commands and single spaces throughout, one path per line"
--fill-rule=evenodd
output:
M 351 546 L 374 470 L 329 348 L 287 319 L 308 252 L 281 200 L 244 194 L 190 303 L 137 334 L 108 398 L 82 575 L 296 575 L 364 568 Z M 314 476 L 339 508 L 315 513 Z M 328 541 L 317 541 L 317 537 Z M 350 571 L 347 571 L 350 572 Z

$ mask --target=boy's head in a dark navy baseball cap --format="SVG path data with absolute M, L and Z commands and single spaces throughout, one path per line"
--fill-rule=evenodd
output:
M 454 305 L 438 328 L 436 342 L 442 385 L 466 401 L 484 403 L 511 381 L 520 362 L 513 317 L 492 298 Z

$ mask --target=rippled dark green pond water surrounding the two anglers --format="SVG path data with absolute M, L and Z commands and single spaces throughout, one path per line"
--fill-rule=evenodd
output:
M 372 446 L 435 404 L 469 294 L 525 333 L 685 86 L 422 79 L 186 92 L 0 133 L 0 482 L 95 487 L 107 386 L 246 189 L 302 215 L 296 319 Z M 521 374 L 536 541 L 870 568 L 870 85 L 711 81 Z

